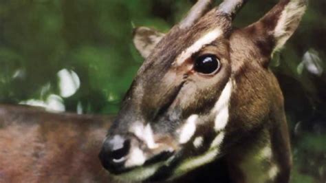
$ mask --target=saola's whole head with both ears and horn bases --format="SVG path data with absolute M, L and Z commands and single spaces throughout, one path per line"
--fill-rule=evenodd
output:
M 199 0 L 167 34 L 135 29 L 145 61 L 100 152 L 113 175 L 179 177 L 237 149 L 241 139 L 270 125 L 274 113 L 283 115 L 268 63 L 296 30 L 305 1 L 281 0 L 241 29 L 232 19 L 246 1 L 210 9 L 212 3 Z

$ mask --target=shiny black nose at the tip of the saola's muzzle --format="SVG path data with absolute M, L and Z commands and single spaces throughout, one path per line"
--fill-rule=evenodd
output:
M 130 140 L 118 135 L 107 138 L 99 154 L 102 166 L 111 173 L 122 173 L 129 150 Z

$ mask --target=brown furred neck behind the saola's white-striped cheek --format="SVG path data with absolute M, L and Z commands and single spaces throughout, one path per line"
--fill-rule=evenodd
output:
M 240 164 L 242 158 L 246 157 L 246 151 L 263 147 L 266 142 L 271 142 L 272 161 L 281 169 L 275 182 L 288 182 L 291 153 L 283 110 L 283 94 L 274 74 L 261 62 L 270 61 L 270 55 L 264 56 L 257 43 L 246 34 L 251 34 L 250 30 L 236 30 L 230 38 L 231 60 L 237 61 L 232 70 L 237 88 L 232 97 L 231 107 L 235 110 L 232 113 L 230 120 L 232 123 L 228 130 L 230 136 L 241 131 L 239 144 L 243 145 L 237 147 L 237 150 L 232 151 L 234 153 L 230 153 L 226 158 L 229 166 L 237 169 L 237 164 Z M 257 136 L 254 133 L 260 135 Z M 255 145 L 252 147 L 249 144 Z M 239 151 L 241 153 L 238 153 Z M 246 182 L 246 172 L 235 172 L 240 173 L 240 175 L 232 175 L 237 179 L 235 182 Z M 242 178 L 239 180 L 239 177 Z

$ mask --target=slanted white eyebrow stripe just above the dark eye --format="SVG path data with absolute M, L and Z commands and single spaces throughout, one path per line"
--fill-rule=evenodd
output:
M 204 45 L 208 45 L 212 43 L 222 34 L 223 34 L 222 30 L 217 28 L 202 36 L 193 45 L 188 47 L 187 50 L 182 52 L 180 56 L 177 57 L 177 62 L 176 62 L 177 65 L 182 65 L 182 63 L 184 63 L 184 61 L 186 61 L 187 58 L 190 58 L 191 55 L 193 55 L 196 52 L 199 52 L 199 50 L 201 50 L 202 47 L 204 47 Z

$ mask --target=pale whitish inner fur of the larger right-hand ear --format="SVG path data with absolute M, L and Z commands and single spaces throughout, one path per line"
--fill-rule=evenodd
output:
M 294 21 L 298 21 L 298 17 L 302 17 L 305 9 L 305 3 L 301 0 L 292 0 L 285 6 L 274 30 L 274 36 L 278 40 L 274 50 L 280 50 L 290 38 L 293 32 L 289 32 L 288 29 Z

